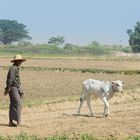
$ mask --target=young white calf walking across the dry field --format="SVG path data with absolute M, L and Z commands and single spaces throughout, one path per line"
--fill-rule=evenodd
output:
M 114 92 L 123 92 L 122 89 L 123 82 L 120 80 L 109 82 L 109 81 L 99 81 L 95 79 L 87 79 L 83 82 L 82 87 L 82 97 L 80 98 L 80 106 L 78 109 L 78 114 L 84 101 L 87 101 L 89 110 L 92 116 L 95 116 L 92 112 L 90 105 L 90 96 L 100 97 L 104 102 L 104 113 L 103 117 L 107 117 L 109 113 L 109 103 L 108 100 L 113 97 Z

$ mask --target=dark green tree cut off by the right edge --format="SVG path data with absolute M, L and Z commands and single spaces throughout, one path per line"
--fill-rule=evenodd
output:
M 140 22 L 136 23 L 134 31 L 128 29 L 127 34 L 129 35 L 129 45 L 131 46 L 132 51 L 140 52 Z

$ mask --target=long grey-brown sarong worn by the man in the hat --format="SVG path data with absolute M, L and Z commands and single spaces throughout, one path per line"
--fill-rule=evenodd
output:
M 21 97 L 17 87 L 12 86 L 10 93 L 10 106 L 9 106 L 9 118 L 17 122 L 21 121 Z

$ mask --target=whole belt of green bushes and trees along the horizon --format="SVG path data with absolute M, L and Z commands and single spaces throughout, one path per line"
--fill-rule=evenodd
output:
M 140 22 L 136 23 L 134 31 L 127 30 L 130 47 L 117 45 L 100 45 L 97 41 L 92 41 L 87 46 L 77 46 L 71 43 L 65 43 L 63 36 L 51 37 L 48 44 L 32 45 L 29 41 L 26 25 L 18 23 L 16 20 L 0 20 L 0 44 L 10 46 L 0 46 L 1 53 L 26 53 L 26 54 L 45 54 L 45 55 L 105 55 L 112 54 L 114 51 L 121 52 L 140 52 Z M 11 46 L 16 43 L 18 46 Z M 65 44 L 64 44 L 65 43 Z M 22 47 L 21 47 L 22 46 Z M 27 47 L 28 46 L 28 47 Z M 61 46 L 61 47 L 60 47 Z M 22 49 L 21 49 L 22 48 Z M 132 49 L 132 50 L 131 50 Z

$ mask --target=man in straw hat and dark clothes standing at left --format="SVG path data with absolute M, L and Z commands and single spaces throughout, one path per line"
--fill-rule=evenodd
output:
M 21 125 L 21 97 L 23 92 L 20 89 L 20 75 L 19 67 L 22 62 L 26 61 L 21 55 L 16 55 L 11 62 L 13 66 L 10 67 L 4 95 L 9 93 L 10 106 L 9 106 L 9 126 L 20 126 Z M 16 121 L 15 124 L 13 121 Z

